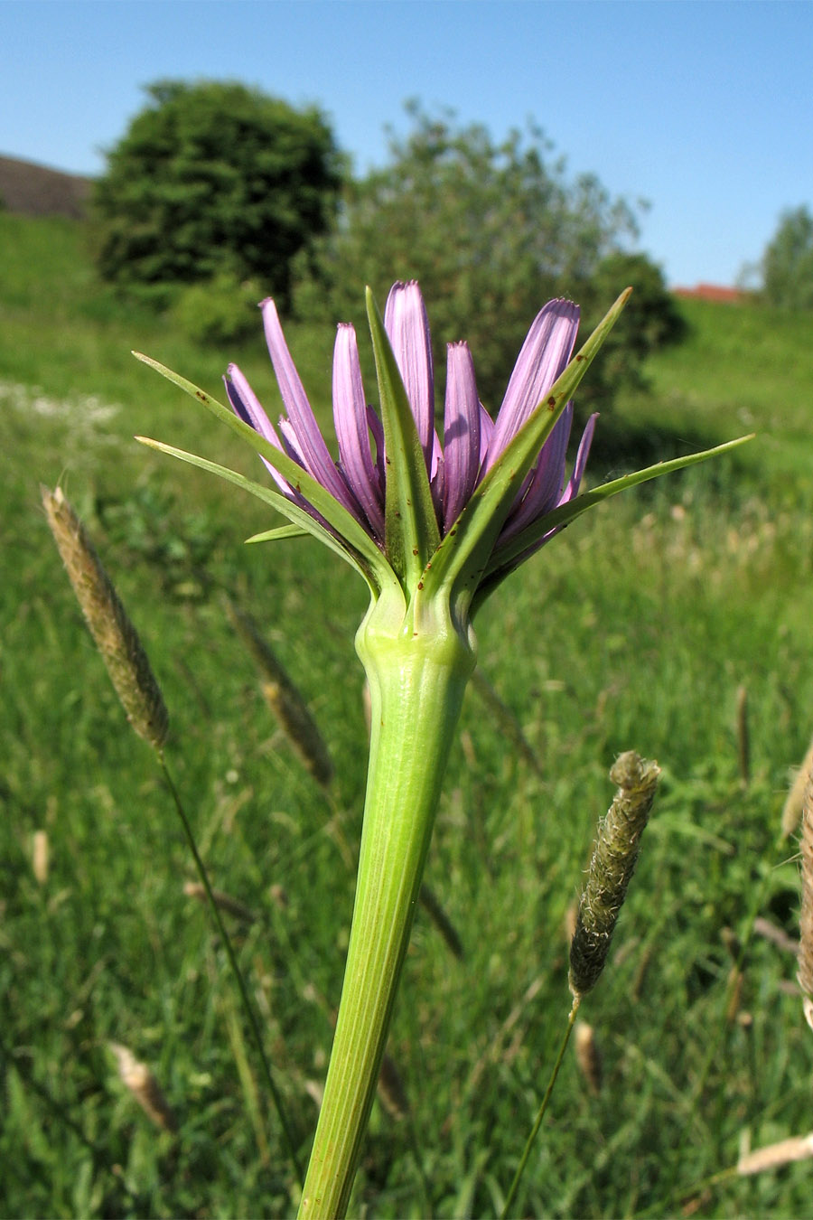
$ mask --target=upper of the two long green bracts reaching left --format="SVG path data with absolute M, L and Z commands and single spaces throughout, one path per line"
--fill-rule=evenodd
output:
M 389 583 L 391 578 L 389 565 L 364 527 L 356 520 L 352 512 L 349 512 L 343 504 L 339 504 L 330 492 L 325 490 L 325 488 L 322 487 L 322 484 L 311 475 L 308 475 L 306 470 L 302 470 L 299 462 L 295 462 L 294 459 L 289 458 L 286 453 L 283 453 L 280 449 L 272 445 L 271 442 L 266 440 L 264 437 L 261 437 L 258 432 L 255 432 L 250 425 L 244 423 L 243 420 L 238 418 L 230 407 L 218 403 L 216 398 L 212 398 L 211 394 L 207 394 L 206 390 L 200 389 L 200 387 L 195 386 L 193 382 L 186 381 L 186 378 L 182 377 L 180 373 L 173 372 L 165 365 L 158 364 L 157 360 L 152 360 L 150 356 L 145 356 L 140 351 L 134 351 L 133 355 L 137 360 L 140 360 L 150 368 L 155 368 L 155 371 L 161 373 L 162 377 L 166 377 L 167 381 L 178 386 L 185 394 L 189 394 L 190 398 L 194 398 L 195 401 L 205 406 L 206 410 L 211 411 L 211 414 L 221 420 L 222 423 L 225 423 L 232 432 L 236 433 L 241 440 L 245 440 L 249 445 L 251 445 L 255 453 L 262 454 L 267 462 L 273 466 L 273 468 L 282 475 L 283 478 L 286 478 L 291 487 L 305 497 L 308 504 L 313 505 L 316 511 L 324 517 L 328 525 L 333 526 L 336 533 L 346 540 L 347 545 L 353 551 L 358 553 L 358 556 L 363 560 L 364 566 L 371 572 L 375 572 L 379 588 L 383 588 Z M 183 453 L 183 450 L 172 451 L 176 454 Z M 223 470 L 224 467 L 218 468 Z M 234 482 L 234 479 L 232 479 L 232 482 Z M 257 487 L 260 484 L 255 483 L 252 486 Z M 284 497 L 279 498 L 285 504 L 289 503 Z M 290 514 L 285 509 L 280 508 L 279 511 L 286 512 L 290 517 Z M 307 516 L 307 514 L 304 515 Z M 291 520 L 295 518 L 291 517 Z M 305 526 L 305 528 L 308 527 Z M 323 531 L 323 533 L 327 534 L 327 531 Z M 328 534 L 328 537 L 332 536 Z

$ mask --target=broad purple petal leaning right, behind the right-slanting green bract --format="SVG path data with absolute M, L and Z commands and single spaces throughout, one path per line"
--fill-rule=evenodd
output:
M 573 301 L 549 301 L 534 318 L 497 415 L 483 473 L 494 466 L 567 367 L 578 329 L 579 306 Z

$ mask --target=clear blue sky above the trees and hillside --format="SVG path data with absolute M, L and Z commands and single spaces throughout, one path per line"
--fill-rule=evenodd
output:
M 808 0 L 0 0 L 0 152 L 95 173 L 161 77 L 317 102 L 358 168 L 403 101 L 502 137 L 530 116 L 570 173 L 650 204 L 669 283 L 731 283 L 813 207 Z

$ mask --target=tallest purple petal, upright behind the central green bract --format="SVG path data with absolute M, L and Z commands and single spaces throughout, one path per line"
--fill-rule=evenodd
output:
M 392 284 L 384 309 L 384 329 L 392 345 L 427 460 L 427 471 L 431 477 L 436 470 L 435 377 L 429 320 L 421 289 L 414 279 L 407 284 Z

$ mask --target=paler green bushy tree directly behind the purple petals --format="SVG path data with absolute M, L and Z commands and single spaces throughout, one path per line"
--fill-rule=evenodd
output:
M 369 283 L 383 300 L 394 279 L 419 279 L 438 372 L 445 343 L 464 337 L 480 394 L 495 409 L 545 300 L 572 296 L 592 321 L 598 304 L 606 309 L 630 282 L 629 261 L 617 266 L 609 287 L 607 276 L 601 282 L 596 276 L 636 233 L 635 216 L 595 177 L 568 182 L 535 127 L 495 144 L 479 124 L 461 128 L 450 113 L 435 118 L 417 104 L 408 109 L 411 133 L 405 139 L 390 133 L 389 163 L 347 185 L 338 224 L 300 260 L 294 301 L 302 315 L 321 310 L 363 325 L 360 285 Z M 670 299 L 659 272 L 641 255 L 633 264 L 639 278 L 645 273 L 647 311 L 655 305 L 666 316 Z M 646 342 L 628 342 L 623 360 L 617 343 L 616 373 L 605 376 L 594 403 L 607 404 L 656 332 L 663 327 L 648 327 Z M 586 401 L 581 392 L 580 400 Z

